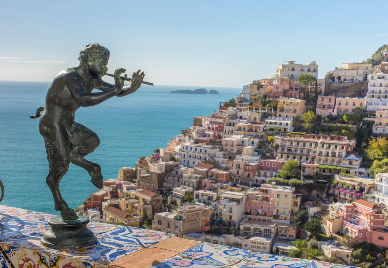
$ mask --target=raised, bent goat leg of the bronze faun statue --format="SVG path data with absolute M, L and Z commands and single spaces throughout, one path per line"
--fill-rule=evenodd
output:
M 70 129 L 70 161 L 74 165 L 87 170 L 91 182 L 99 189 L 102 188 L 102 174 L 99 164 L 88 161 L 84 156 L 92 153 L 100 144 L 100 139 L 93 131 L 84 125 L 74 122 Z

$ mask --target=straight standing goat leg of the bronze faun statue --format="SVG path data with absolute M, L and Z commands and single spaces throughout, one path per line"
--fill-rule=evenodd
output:
M 59 134 L 59 136 L 61 136 Z M 64 220 L 76 220 L 78 216 L 74 210 L 69 208 L 68 204 L 62 198 L 59 190 L 59 183 L 69 168 L 70 156 L 69 146 L 66 145 L 66 137 L 57 137 L 56 142 L 45 139 L 47 159 L 49 160 L 49 174 L 46 177 L 46 183 L 49 186 L 54 198 L 55 210 L 61 211 Z

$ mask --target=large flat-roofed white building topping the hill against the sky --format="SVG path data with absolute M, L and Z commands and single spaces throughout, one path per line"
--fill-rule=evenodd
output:
M 296 79 L 301 74 L 311 74 L 318 78 L 318 64 L 315 61 L 309 62 L 307 65 L 296 64 L 295 61 L 281 61 L 279 68 L 276 69 L 276 74 L 271 76 L 272 81 L 276 77 L 287 77 Z

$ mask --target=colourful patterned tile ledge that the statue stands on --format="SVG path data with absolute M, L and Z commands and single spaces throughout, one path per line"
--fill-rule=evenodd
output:
M 40 244 L 53 215 L 0 205 L 1 268 L 162 268 L 260 267 L 340 268 L 244 249 L 201 243 L 172 234 L 134 227 L 90 222 L 98 238 L 94 246 L 58 250 Z

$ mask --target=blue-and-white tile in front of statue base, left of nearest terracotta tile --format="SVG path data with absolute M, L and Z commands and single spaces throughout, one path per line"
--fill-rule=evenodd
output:
M 81 247 L 79 249 L 54 249 L 51 254 L 67 256 L 85 261 L 95 261 L 97 263 L 110 263 L 127 254 L 142 249 L 137 244 L 127 244 L 115 241 L 99 239 L 96 245 Z

